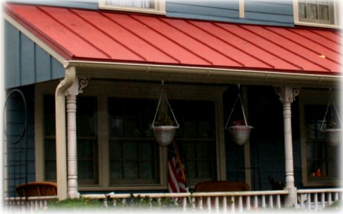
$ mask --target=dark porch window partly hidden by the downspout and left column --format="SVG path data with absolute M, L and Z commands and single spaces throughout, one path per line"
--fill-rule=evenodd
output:
M 77 98 L 77 176 L 79 184 L 98 184 L 98 139 L 96 123 L 96 98 Z M 44 97 L 44 162 L 45 181 L 56 181 L 56 137 L 54 96 Z

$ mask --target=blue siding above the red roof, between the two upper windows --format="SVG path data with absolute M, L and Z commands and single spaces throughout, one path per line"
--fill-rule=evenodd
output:
M 245 18 L 239 17 L 239 1 L 167 0 L 168 17 L 214 20 L 245 24 L 294 26 L 293 1 L 245 0 Z

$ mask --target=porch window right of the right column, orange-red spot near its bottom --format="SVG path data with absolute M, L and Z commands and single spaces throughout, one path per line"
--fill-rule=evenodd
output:
M 307 93 L 307 91 L 302 92 Z M 301 93 L 300 93 L 301 94 Z M 326 142 L 326 137 L 321 132 L 321 125 L 326 128 L 323 117 L 326 112 L 328 100 L 313 99 L 312 93 L 300 96 L 301 101 L 301 155 L 303 162 L 303 184 L 305 186 L 334 186 L 340 180 L 340 151 L 341 144 L 331 146 Z M 327 98 L 323 91 L 317 93 L 318 97 Z M 323 101 L 323 102 L 321 102 Z

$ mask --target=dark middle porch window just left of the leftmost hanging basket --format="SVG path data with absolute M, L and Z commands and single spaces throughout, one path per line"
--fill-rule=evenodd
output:
M 109 98 L 110 184 L 159 183 L 158 144 L 151 122 L 155 100 Z

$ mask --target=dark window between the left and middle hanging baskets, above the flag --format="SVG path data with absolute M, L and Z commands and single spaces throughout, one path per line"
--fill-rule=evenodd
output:
M 215 180 L 214 103 L 185 100 L 172 100 L 171 103 L 180 123 L 175 139 L 188 182 L 195 185 L 200 181 Z

